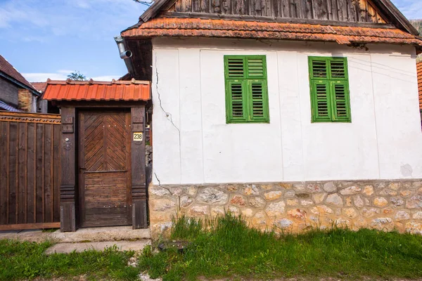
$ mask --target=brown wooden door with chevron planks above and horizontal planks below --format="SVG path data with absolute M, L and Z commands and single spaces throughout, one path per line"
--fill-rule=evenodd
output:
M 132 224 L 129 125 L 129 112 L 79 112 L 81 227 Z

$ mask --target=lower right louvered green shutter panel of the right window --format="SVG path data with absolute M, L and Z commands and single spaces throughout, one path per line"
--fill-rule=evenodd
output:
M 347 81 L 332 81 L 333 119 L 335 121 L 350 120 L 350 98 Z

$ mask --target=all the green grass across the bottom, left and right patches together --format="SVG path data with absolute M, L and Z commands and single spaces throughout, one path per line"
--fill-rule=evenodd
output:
M 188 240 L 184 254 L 156 253 L 146 247 L 138 268 L 127 266 L 131 251 L 85 251 L 53 254 L 40 244 L 0 240 L 0 280 L 32 280 L 84 275 L 88 280 L 136 280 L 140 272 L 163 280 L 205 277 L 274 279 L 335 277 L 369 280 L 422 277 L 422 236 L 376 230 L 311 230 L 300 235 L 261 233 L 230 214 L 200 221 L 174 221 L 170 240 Z M 37 279 L 38 280 L 38 279 Z M 79 279 L 78 279 L 79 280 Z

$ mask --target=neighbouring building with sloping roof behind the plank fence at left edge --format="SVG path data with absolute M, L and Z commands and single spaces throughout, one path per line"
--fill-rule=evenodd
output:
M 38 91 L 0 55 L 0 110 L 37 112 Z

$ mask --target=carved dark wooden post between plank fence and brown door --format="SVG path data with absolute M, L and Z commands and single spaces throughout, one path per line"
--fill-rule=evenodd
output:
M 62 107 L 61 117 L 60 230 L 74 232 L 77 207 L 75 107 Z

